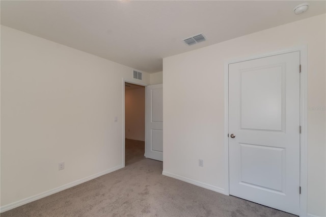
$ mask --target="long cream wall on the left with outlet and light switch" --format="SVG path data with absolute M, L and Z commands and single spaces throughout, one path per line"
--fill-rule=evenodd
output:
M 2 211 L 123 166 L 123 78 L 138 83 L 129 67 L 1 26 Z

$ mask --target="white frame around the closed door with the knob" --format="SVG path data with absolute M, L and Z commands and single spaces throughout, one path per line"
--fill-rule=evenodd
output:
M 224 194 L 230 195 L 229 186 L 229 65 L 233 63 L 255 60 L 284 53 L 300 51 L 300 216 L 307 216 L 307 188 L 308 188 L 308 71 L 307 71 L 307 45 L 292 47 L 276 52 L 264 53 L 247 58 L 228 60 L 224 63 L 224 155 L 225 155 L 225 188 Z M 299 191 L 299 189 L 298 189 Z

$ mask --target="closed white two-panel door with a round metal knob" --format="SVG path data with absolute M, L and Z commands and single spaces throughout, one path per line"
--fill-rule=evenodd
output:
M 299 72 L 300 51 L 229 65 L 230 195 L 296 215 Z

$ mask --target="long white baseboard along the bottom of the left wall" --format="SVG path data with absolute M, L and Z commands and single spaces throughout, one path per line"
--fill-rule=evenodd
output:
M 18 206 L 22 206 L 24 204 L 27 204 L 27 203 L 30 203 L 30 202 L 33 202 L 33 201 L 36 201 L 36 200 L 39 200 L 39 199 L 47 197 L 49 195 L 56 194 L 56 193 L 61 192 L 61 191 L 65 190 L 65 189 L 67 189 L 67 188 L 76 186 L 78 184 L 82 184 L 82 183 L 87 182 L 89 180 L 95 179 L 95 178 L 97 178 L 99 176 L 102 176 L 102 175 L 105 175 L 105 174 L 108 174 L 108 173 L 112 173 L 113 171 L 119 170 L 121 168 L 123 168 L 123 165 L 114 167 L 114 168 L 109 169 L 109 170 L 105 170 L 105 171 L 100 172 L 100 173 L 96 173 L 94 175 L 91 175 L 91 176 L 88 176 L 88 177 L 85 177 L 85 178 L 82 178 L 82 179 L 78 179 L 78 180 L 70 182 L 68 184 L 64 184 L 64 185 L 62 185 L 60 187 L 50 189 L 49 191 L 46 191 L 46 192 L 31 196 L 31 197 L 28 197 L 28 198 L 25 198 L 25 199 L 22 199 L 22 200 L 19 200 L 19 201 L 16 201 L 16 202 L 4 205 L 4 206 L 1 206 L 0 207 L 0 213 L 8 211 L 8 210 L 13 209 L 13 208 L 16 208 Z

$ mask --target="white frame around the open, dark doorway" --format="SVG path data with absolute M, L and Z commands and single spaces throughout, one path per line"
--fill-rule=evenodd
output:
M 142 83 L 136 83 L 134 81 L 131 81 L 129 79 L 126 78 L 122 78 L 122 104 L 123 104 L 123 115 L 122 115 L 122 167 L 125 167 L 125 151 L 126 151 L 126 111 L 125 111 L 125 83 L 130 83 L 130 84 L 134 84 L 134 85 L 139 85 L 139 86 L 143 86 L 144 88 L 146 88 L 146 84 L 142 84 Z M 146 93 L 145 93 L 146 94 Z M 146 104 L 146 95 L 145 95 L 145 104 Z M 146 132 L 146 109 L 145 109 L 145 132 Z M 146 146 L 146 137 L 145 137 L 145 146 Z M 145 147 L 146 150 L 146 147 Z M 145 153 L 144 153 L 145 154 Z

